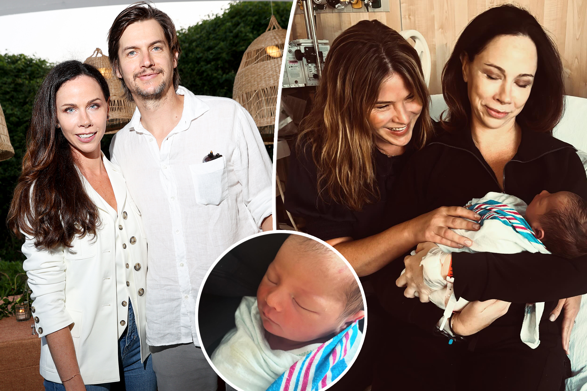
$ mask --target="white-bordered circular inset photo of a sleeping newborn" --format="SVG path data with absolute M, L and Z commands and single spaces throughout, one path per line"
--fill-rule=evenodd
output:
M 355 272 L 300 232 L 264 232 L 227 250 L 204 278 L 197 316 L 200 345 L 227 391 L 326 389 L 366 331 Z

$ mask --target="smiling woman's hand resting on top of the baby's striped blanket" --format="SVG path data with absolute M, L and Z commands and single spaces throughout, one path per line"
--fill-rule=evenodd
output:
M 465 220 L 467 218 L 473 221 Z M 475 221 L 480 218 L 480 215 L 467 208 L 440 207 L 410 220 L 410 232 L 413 232 L 413 240 L 416 243 L 435 242 L 448 247 L 462 248 L 470 246 L 473 242 L 450 228 L 478 231 L 480 225 Z

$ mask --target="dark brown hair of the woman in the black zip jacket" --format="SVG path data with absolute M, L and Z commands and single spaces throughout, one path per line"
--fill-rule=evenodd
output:
M 448 105 L 442 127 L 449 132 L 469 130 L 471 105 L 463 79 L 461 56 L 472 62 L 499 35 L 527 36 L 536 45 L 538 68 L 524 109 L 516 121 L 534 132 L 552 134 L 565 110 L 565 83 L 556 44 L 528 11 L 511 4 L 490 8 L 475 16 L 458 37 L 442 73 L 442 92 Z M 507 49 L 506 49 L 507 50 Z

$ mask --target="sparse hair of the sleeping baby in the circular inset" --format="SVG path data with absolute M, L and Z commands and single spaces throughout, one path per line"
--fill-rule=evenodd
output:
M 337 261 L 343 267 L 348 267 L 345 262 L 340 259 L 338 255 L 330 248 L 323 245 L 317 240 L 308 238 L 302 235 L 291 234 L 286 241 L 295 241 L 298 245 L 299 250 L 309 252 L 321 257 L 328 257 L 333 261 Z M 340 319 L 346 318 L 347 316 L 356 314 L 358 311 L 363 309 L 363 295 L 361 289 L 352 273 L 348 273 L 348 277 L 345 278 L 345 310 L 340 315 Z

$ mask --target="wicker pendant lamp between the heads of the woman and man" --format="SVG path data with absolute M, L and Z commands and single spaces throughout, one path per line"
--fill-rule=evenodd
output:
M 104 56 L 102 50 L 96 48 L 84 63 L 95 66 L 108 82 L 108 88 L 110 89 L 110 117 L 106 123 L 106 134 L 116 133 L 130 122 L 136 105 L 124 97 L 122 84 L 112 72 L 108 56 Z

